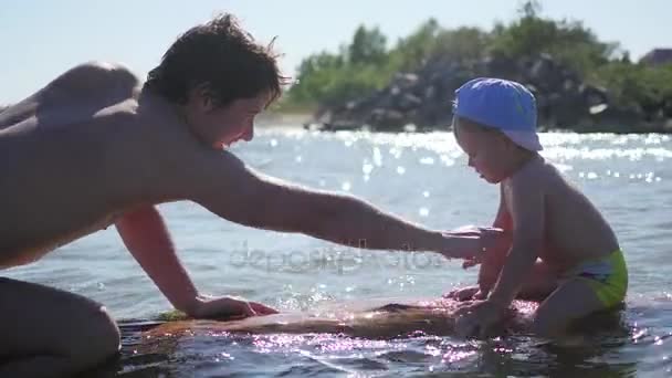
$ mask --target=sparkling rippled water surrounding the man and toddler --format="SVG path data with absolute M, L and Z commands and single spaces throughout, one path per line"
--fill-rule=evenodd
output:
M 358 339 L 335 335 L 217 335 L 135 349 L 124 328 L 120 361 L 99 375 L 223 376 L 672 376 L 672 141 L 660 135 L 544 134 L 543 155 L 603 211 L 630 269 L 622 325 L 575 345 L 526 337 L 464 342 L 419 335 Z M 250 166 L 309 187 L 351 192 L 432 228 L 490 223 L 497 189 L 468 167 L 450 133 L 321 134 L 261 130 L 234 147 Z M 225 196 L 225 193 L 222 193 Z M 385 297 L 432 297 L 475 280 L 475 270 L 429 253 L 361 252 L 303 235 L 246 229 L 192 203 L 161 207 L 201 291 L 237 294 L 284 311 Z M 62 248 L 11 277 L 103 302 L 119 319 L 170 307 L 113 228 Z M 167 343 L 168 344 L 168 343 Z

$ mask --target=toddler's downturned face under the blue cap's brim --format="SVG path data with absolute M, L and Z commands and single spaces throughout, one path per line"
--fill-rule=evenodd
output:
M 461 123 L 463 120 L 454 119 L 453 132 L 458 145 L 469 157 L 468 165 L 490 183 L 505 179 L 511 156 L 510 144 L 505 137 L 494 130 L 465 127 Z

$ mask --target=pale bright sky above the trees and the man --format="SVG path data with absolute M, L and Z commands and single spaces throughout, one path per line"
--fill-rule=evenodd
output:
M 672 48 L 672 0 L 542 0 L 542 15 L 582 21 L 639 59 Z M 86 61 L 118 62 L 144 77 L 175 39 L 218 12 L 235 14 L 261 42 L 276 38 L 294 74 L 309 54 L 337 52 L 355 29 L 378 27 L 393 44 L 429 18 L 490 30 L 517 17 L 516 0 L 6 0 L 0 7 L 0 104 L 29 96 Z

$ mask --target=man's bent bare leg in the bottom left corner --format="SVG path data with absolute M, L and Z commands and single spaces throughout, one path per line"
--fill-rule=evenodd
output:
M 0 277 L 0 377 L 69 377 L 119 348 L 105 307 L 52 287 Z

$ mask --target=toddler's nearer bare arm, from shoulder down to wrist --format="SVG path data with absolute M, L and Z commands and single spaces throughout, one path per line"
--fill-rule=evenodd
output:
M 534 177 L 514 177 L 510 193 L 513 242 L 489 302 L 507 307 L 532 271 L 544 242 L 544 193 Z

